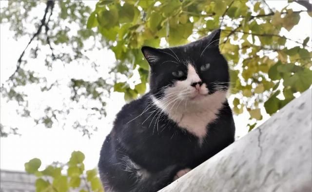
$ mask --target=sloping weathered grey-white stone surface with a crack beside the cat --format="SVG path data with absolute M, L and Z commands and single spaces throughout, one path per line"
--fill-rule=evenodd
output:
M 237 127 L 239 128 L 239 127 Z M 161 192 L 311 192 L 312 90 Z

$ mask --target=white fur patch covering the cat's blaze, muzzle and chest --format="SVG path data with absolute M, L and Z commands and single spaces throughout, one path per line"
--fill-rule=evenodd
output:
M 153 96 L 153 101 L 179 127 L 197 136 L 201 143 L 207 134 L 207 125 L 217 118 L 219 109 L 226 101 L 226 92 L 217 91 L 208 95 L 209 90 L 205 83 L 192 86 L 197 82 L 202 80 L 195 68 L 189 64 L 187 78 L 166 88 L 162 99 Z

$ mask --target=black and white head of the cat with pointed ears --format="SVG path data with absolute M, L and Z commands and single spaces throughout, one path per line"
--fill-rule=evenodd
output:
M 220 30 L 172 48 L 143 47 L 151 66 L 150 89 L 156 99 L 198 101 L 229 88 L 229 71 L 219 51 Z

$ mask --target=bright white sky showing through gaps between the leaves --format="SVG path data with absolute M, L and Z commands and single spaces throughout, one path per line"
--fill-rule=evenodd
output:
M 86 1 L 86 4 L 89 5 L 92 9 L 95 7 L 97 1 L 89 0 Z M 287 4 L 286 1 L 282 0 L 268 0 L 268 4 L 271 7 L 275 7 L 280 10 Z M 4 3 L 1 3 L 0 6 L 5 6 Z M 293 5 L 294 10 L 304 9 L 300 5 Z M 312 34 L 312 19 L 306 13 L 301 13 L 301 20 L 297 26 L 295 26 L 291 32 L 286 30 L 281 31 L 281 35 L 286 35 L 293 39 L 303 39 L 307 35 Z M 20 56 L 20 53 L 24 49 L 24 46 L 28 42 L 27 37 L 20 38 L 19 40 L 14 40 L 12 38 L 13 32 L 9 31 L 7 25 L 1 25 L 0 27 L 0 81 L 3 82 L 6 78 L 12 74 L 12 71 L 15 70 L 16 61 Z M 294 46 L 291 43 L 290 47 Z M 101 50 L 97 52 L 89 52 L 89 57 L 93 58 L 95 61 L 103 62 L 102 58 L 105 57 L 104 64 L 106 67 L 103 67 L 102 75 L 109 75 L 109 66 L 113 65 L 115 62 L 114 53 L 109 50 Z M 36 68 L 42 67 L 42 73 L 44 73 L 44 68 L 46 68 L 42 63 L 43 58 L 38 58 L 31 60 L 33 66 Z M 82 66 L 77 69 L 71 69 L 70 67 L 64 68 L 62 65 L 56 65 L 56 69 L 53 69 L 52 73 L 46 73 L 48 80 L 52 82 L 57 77 L 62 77 L 63 75 L 74 75 L 74 76 L 83 76 L 85 75 L 86 69 Z M 40 69 L 39 69 L 40 70 Z M 66 72 L 64 72 L 66 71 Z M 71 71 L 71 72 L 68 72 Z M 73 74 L 69 74 L 73 73 Z M 136 75 L 135 77 L 136 78 Z M 37 90 L 38 91 L 38 90 Z M 29 105 L 37 109 L 38 100 L 43 100 L 42 102 L 51 103 L 51 105 L 58 105 L 58 102 L 55 101 L 55 96 L 57 94 L 64 94 L 64 97 L 69 97 L 69 92 L 61 92 L 60 90 L 52 91 L 51 94 L 45 95 L 43 98 L 36 97 L 36 87 L 34 87 L 34 94 L 29 98 Z M 298 96 L 298 95 L 297 95 Z M 233 98 L 229 98 L 230 103 Z M 42 161 L 42 168 L 46 165 L 49 165 L 53 161 L 67 162 L 70 158 L 71 152 L 74 150 L 82 151 L 85 156 L 85 167 L 86 169 L 92 169 L 97 166 L 99 151 L 104 141 L 106 135 L 110 132 L 113 124 L 115 115 L 120 110 L 120 108 L 125 104 L 123 100 L 122 93 L 112 93 L 109 98 L 108 105 L 106 106 L 107 117 L 99 120 L 98 125 L 101 127 L 98 129 L 91 139 L 87 137 L 81 137 L 81 132 L 72 129 L 71 127 L 62 129 L 62 128 L 53 128 L 45 129 L 42 127 L 34 126 L 34 123 L 31 120 L 21 120 L 18 118 L 16 113 L 17 105 L 13 103 L 6 103 L 5 100 L 1 99 L 0 101 L 0 122 L 2 124 L 12 125 L 13 127 L 20 128 L 21 136 L 9 136 L 8 138 L 0 138 L 0 169 L 6 170 L 16 170 L 23 171 L 24 163 L 28 160 L 38 157 Z M 264 110 L 262 107 L 261 110 Z M 80 118 L 79 114 L 72 115 L 68 117 L 68 121 L 74 121 L 75 118 Z M 83 118 L 83 117 L 81 117 Z M 244 111 L 243 114 L 239 116 L 234 116 L 234 121 L 236 124 L 236 136 L 244 136 L 247 134 L 248 129 L 246 127 L 246 120 L 249 118 L 247 111 Z M 269 116 L 265 116 L 259 124 L 265 122 Z

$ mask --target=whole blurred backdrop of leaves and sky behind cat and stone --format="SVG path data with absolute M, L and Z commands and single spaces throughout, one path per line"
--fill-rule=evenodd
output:
M 311 9 L 309 0 L 1 0 L 1 192 L 25 169 L 37 191 L 101 191 L 102 142 L 120 108 L 148 91 L 140 48 L 217 28 L 241 138 L 311 87 Z

